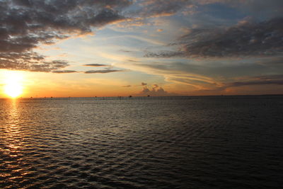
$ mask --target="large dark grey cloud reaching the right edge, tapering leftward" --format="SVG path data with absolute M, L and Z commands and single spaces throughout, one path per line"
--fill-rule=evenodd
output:
M 242 23 L 228 29 L 192 29 L 177 52 L 147 52 L 146 57 L 264 57 L 283 54 L 283 18 Z M 175 44 L 175 45 L 176 45 Z

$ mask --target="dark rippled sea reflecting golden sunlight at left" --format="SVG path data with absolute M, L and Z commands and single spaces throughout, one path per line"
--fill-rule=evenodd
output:
M 283 188 L 283 96 L 0 100 L 0 188 Z

